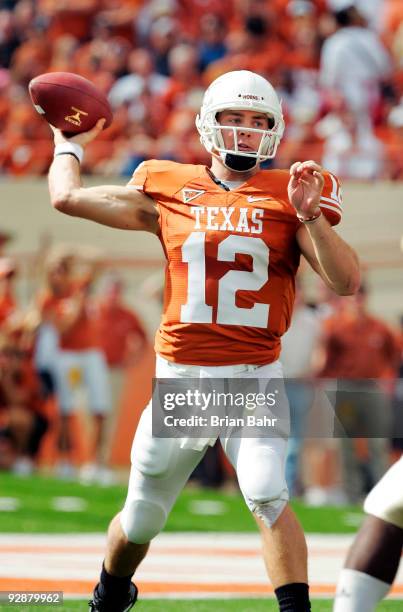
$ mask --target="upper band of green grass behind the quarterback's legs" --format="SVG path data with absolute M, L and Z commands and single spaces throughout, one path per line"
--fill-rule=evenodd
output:
M 1 531 L 25 533 L 104 532 L 125 500 L 126 487 L 91 487 L 34 476 L 0 474 Z M 58 498 L 76 498 L 78 511 L 60 511 Z M 2 507 L 12 498 L 16 509 Z M 6 500 L 7 501 L 7 500 Z M 203 513 L 203 503 L 215 502 L 219 513 Z M 81 506 L 81 508 L 79 507 Z M 358 507 L 307 508 L 293 503 L 306 533 L 353 533 L 363 514 Z M 165 531 L 256 531 L 255 522 L 240 493 L 185 489 L 175 504 Z

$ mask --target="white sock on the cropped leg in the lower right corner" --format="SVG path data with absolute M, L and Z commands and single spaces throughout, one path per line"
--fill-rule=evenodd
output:
M 390 584 L 364 572 L 343 569 L 337 583 L 333 612 L 375 612 Z

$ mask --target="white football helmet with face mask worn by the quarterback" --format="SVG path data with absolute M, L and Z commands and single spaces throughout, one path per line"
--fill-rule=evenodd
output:
M 222 126 L 217 121 L 217 113 L 223 110 L 256 111 L 264 113 L 272 124 L 269 129 L 248 128 L 248 132 L 259 132 L 261 140 L 258 150 L 240 151 L 238 149 L 238 133 L 245 130 L 241 126 Z M 270 83 L 259 74 L 248 70 L 237 70 L 227 72 L 218 77 L 206 90 L 200 115 L 196 117 L 196 127 L 200 134 L 200 140 L 209 153 L 217 155 L 227 166 L 233 156 L 254 158 L 250 160 L 248 168 L 256 164 L 272 159 L 276 155 L 284 133 L 284 118 L 281 103 Z M 226 149 L 222 130 L 232 130 L 234 135 L 234 148 Z M 246 160 L 245 160 L 246 161 Z M 232 170 L 243 171 L 244 167 L 233 167 Z

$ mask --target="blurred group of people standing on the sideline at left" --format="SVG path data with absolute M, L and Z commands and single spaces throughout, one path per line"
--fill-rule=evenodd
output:
M 13 258 L 0 257 L 0 470 L 30 474 L 52 432 L 47 462 L 57 476 L 110 484 L 119 396 L 127 368 L 143 355 L 144 327 L 124 301 L 122 279 L 77 252 L 47 255 L 43 282 L 24 307 L 19 272 Z M 80 432 L 84 407 L 90 423 Z M 87 438 L 85 460 L 74 454 L 77 437 Z

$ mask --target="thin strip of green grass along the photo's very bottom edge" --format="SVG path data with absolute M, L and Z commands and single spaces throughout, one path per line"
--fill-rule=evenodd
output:
M 16 606 L 0 607 L 2 612 L 17 612 Z M 18 612 L 75 612 L 88 610 L 86 600 L 66 602 L 63 606 L 24 606 Z M 270 599 L 171 599 L 139 601 L 133 611 L 136 612 L 278 612 L 276 602 Z M 332 602 L 328 599 L 314 599 L 312 612 L 331 612 Z M 401 612 L 402 602 L 386 601 L 380 604 L 377 612 Z

